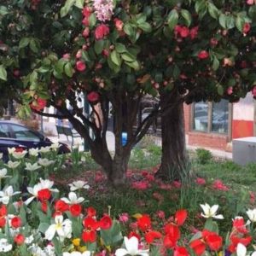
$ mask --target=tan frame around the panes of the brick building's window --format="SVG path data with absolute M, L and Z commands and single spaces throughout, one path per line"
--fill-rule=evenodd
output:
M 208 116 L 207 116 L 207 131 L 198 131 L 195 130 L 195 103 L 192 103 L 192 108 L 191 108 L 191 119 L 190 119 L 190 131 L 193 132 L 199 132 L 199 133 L 205 133 L 205 134 L 216 134 L 219 136 L 224 136 L 228 137 L 229 141 L 231 140 L 231 126 L 232 126 L 232 116 L 233 116 L 233 108 L 232 108 L 232 103 L 228 103 L 228 112 L 229 112 L 229 117 L 228 117 L 228 131 L 227 132 L 217 132 L 217 131 L 212 131 L 212 107 L 213 107 L 213 102 L 207 102 L 208 105 Z

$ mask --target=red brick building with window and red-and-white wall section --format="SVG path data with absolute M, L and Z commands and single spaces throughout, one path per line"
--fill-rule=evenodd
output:
M 186 141 L 191 146 L 232 150 L 232 139 L 256 136 L 256 101 L 184 104 Z

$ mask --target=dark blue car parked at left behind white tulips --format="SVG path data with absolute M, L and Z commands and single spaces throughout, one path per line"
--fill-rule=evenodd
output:
M 0 120 L 0 153 L 3 153 L 3 160 L 8 160 L 8 148 L 41 148 L 51 144 L 53 143 L 49 138 L 38 131 L 15 122 Z M 69 152 L 67 145 L 60 143 L 59 154 Z

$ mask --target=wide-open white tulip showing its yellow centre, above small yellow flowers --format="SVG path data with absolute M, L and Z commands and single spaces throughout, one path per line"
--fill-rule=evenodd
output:
M 60 239 L 71 238 L 72 233 L 72 222 L 70 219 L 65 219 L 63 221 L 62 215 L 55 216 L 55 224 L 51 224 L 48 230 L 45 231 L 45 239 L 51 241 L 55 236 L 55 233 L 60 236 Z

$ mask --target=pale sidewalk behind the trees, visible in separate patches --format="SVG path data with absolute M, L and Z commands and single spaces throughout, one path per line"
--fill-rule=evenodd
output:
M 61 142 L 61 143 L 67 143 L 67 145 L 71 146 L 71 138 L 69 141 L 67 141 L 67 137 L 64 135 L 61 135 L 60 138 L 58 138 L 58 134 L 55 128 L 55 123 L 53 122 L 45 122 L 44 121 L 44 131 L 46 131 L 46 134 L 44 134 L 46 137 L 49 137 L 49 139 L 53 143 Z M 47 133 L 51 133 L 52 135 L 48 135 Z M 108 143 L 108 149 L 109 151 L 114 151 L 114 136 L 113 132 L 108 131 L 107 132 L 107 143 Z M 155 137 L 155 143 L 157 145 L 161 145 L 161 138 L 160 137 Z M 74 147 L 79 147 L 79 150 L 84 150 L 84 140 L 82 138 L 76 137 L 74 138 Z M 195 146 L 190 146 L 187 145 L 187 148 L 189 150 L 195 150 L 196 148 L 200 147 L 195 147 Z M 212 149 L 212 148 L 206 148 L 207 150 L 212 152 L 212 155 L 218 158 L 223 158 L 226 160 L 232 160 L 232 153 L 218 150 L 218 149 Z

